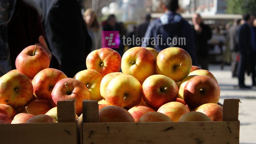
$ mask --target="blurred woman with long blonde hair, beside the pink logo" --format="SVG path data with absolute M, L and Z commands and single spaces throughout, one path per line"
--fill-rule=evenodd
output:
M 101 29 L 97 20 L 97 15 L 92 9 L 87 9 L 84 12 L 84 20 L 87 26 L 89 35 L 92 38 L 91 51 L 101 48 Z

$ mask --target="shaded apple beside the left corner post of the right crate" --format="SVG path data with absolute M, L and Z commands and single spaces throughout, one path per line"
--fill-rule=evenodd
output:
M 99 122 L 135 122 L 135 120 L 124 108 L 107 106 L 99 110 Z

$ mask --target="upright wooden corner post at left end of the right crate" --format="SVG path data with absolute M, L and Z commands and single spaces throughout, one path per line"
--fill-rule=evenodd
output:
M 83 100 L 83 122 L 98 122 L 99 107 L 96 100 Z

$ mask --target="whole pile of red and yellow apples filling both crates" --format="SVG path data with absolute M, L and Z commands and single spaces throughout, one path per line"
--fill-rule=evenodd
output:
M 57 101 L 69 99 L 76 99 L 77 115 L 84 99 L 97 100 L 100 122 L 222 120 L 216 78 L 192 66 L 181 48 L 134 47 L 123 57 L 101 48 L 73 78 L 49 68 L 39 46 L 25 48 L 15 64 L 0 77 L 0 123 L 56 122 Z

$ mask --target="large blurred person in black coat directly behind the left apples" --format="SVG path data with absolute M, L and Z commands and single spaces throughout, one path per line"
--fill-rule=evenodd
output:
M 52 53 L 68 77 L 86 69 L 92 40 L 77 0 L 34 0 L 45 14 L 44 28 Z

